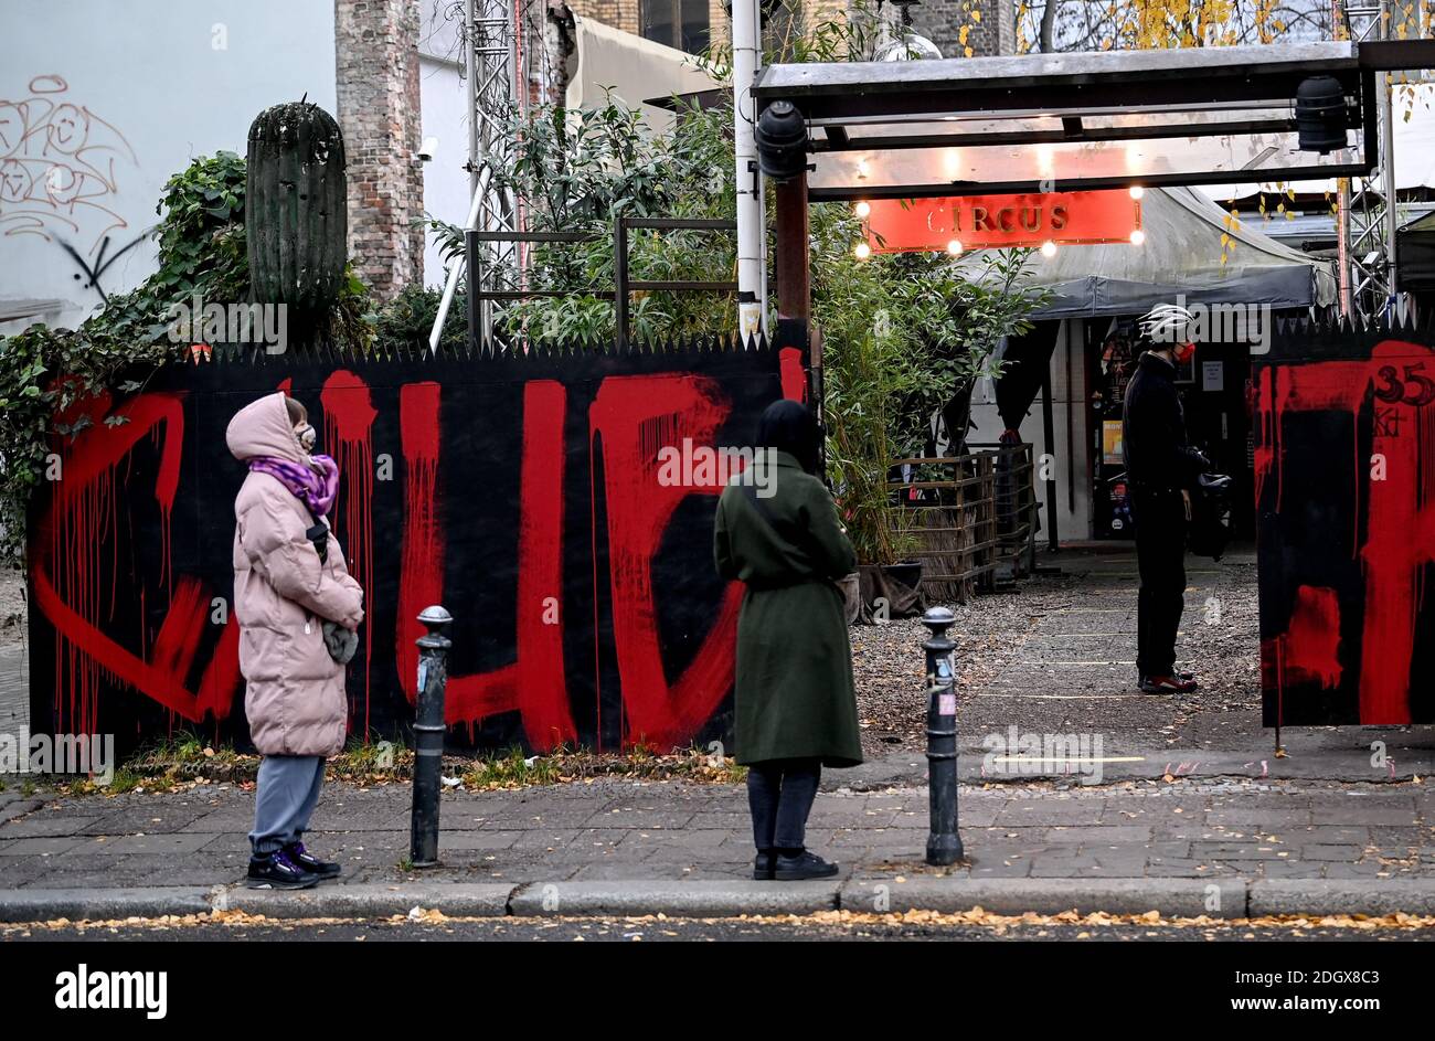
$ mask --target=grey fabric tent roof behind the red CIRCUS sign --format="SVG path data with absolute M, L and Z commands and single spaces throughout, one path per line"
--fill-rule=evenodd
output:
M 1330 266 L 1258 231 L 1225 224 L 1225 213 L 1191 188 L 1148 188 L 1141 246 L 1062 246 L 1035 254 L 1029 286 L 1052 291 L 1038 319 L 1141 314 L 1158 303 L 1243 303 L 1309 307 L 1335 302 Z M 1221 235 L 1236 240 L 1221 263 Z M 977 270 L 976 256 L 961 261 Z

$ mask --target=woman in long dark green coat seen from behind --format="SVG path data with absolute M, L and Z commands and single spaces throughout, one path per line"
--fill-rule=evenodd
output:
M 805 406 L 769 405 L 758 426 L 761 457 L 723 490 L 713 530 L 718 573 L 748 586 L 738 619 L 736 760 L 748 767 L 755 879 L 837 874 L 837 864 L 806 850 L 806 818 L 822 767 L 862 761 L 835 584 L 857 559 L 817 477 L 818 437 Z

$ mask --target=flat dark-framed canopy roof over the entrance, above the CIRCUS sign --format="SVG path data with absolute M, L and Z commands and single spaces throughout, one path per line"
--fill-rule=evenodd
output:
M 1290 181 L 1365 174 L 1375 76 L 1435 40 L 772 65 L 753 96 L 808 126 L 812 200 Z M 1346 145 L 1300 151 L 1294 98 L 1330 76 Z

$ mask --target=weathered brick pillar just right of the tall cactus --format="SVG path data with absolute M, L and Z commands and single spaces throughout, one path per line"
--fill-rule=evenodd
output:
M 349 253 L 382 299 L 423 281 L 419 0 L 334 0 Z

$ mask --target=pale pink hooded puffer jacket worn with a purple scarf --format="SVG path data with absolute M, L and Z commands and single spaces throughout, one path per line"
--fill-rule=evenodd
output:
M 240 461 L 309 461 L 283 393 L 240 409 L 225 441 Z M 234 500 L 234 615 L 250 737 L 264 755 L 336 755 L 344 745 L 349 702 L 344 666 L 324 648 L 323 620 L 357 629 L 363 590 L 333 533 L 327 560 L 319 560 L 304 536 L 316 518 L 277 478 L 251 471 Z

